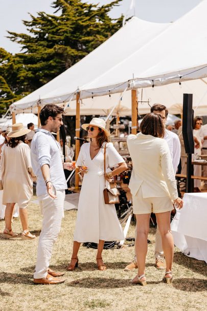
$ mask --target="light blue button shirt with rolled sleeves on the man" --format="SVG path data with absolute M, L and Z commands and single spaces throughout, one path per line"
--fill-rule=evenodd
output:
M 50 180 L 56 190 L 67 189 L 65 180 L 61 150 L 51 132 L 38 129 L 31 143 L 32 168 L 37 176 L 37 196 L 47 193 L 41 167 L 48 164 L 50 167 Z

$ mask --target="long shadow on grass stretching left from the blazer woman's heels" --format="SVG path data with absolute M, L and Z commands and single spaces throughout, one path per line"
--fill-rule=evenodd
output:
M 159 284 L 160 281 L 148 282 L 148 284 Z M 130 283 L 130 279 L 107 279 L 107 278 L 83 278 L 75 280 L 66 284 L 72 287 L 85 287 L 85 288 L 119 288 L 136 286 Z M 139 285 L 137 285 L 139 286 Z

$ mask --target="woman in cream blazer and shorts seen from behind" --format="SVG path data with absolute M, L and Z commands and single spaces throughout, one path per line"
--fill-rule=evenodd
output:
M 163 139 L 165 129 L 158 114 L 147 114 L 141 123 L 141 132 L 129 135 L 127 144 L 133 163 L 129 183 L 132 194 L 133 213 L 136 215 L 136 257 L 138 274 L 132 283 L 146 285 L 145 260 L 147 236 L 151 212 L 156 214 L 166 258 L 164 280 L 172 282 L 173 237 L 170 232 L 170 213 L 173 203 L 181 208 L 175 174 L 167 142 Z

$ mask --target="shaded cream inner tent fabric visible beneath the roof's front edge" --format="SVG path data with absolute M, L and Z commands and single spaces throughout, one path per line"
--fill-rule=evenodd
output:
M 139 114 L 150 112 L 150 107 L 154 103 L 165 105 L 171 114 L 182 114 L 183 93 L 193 94 L 193 108 L 196 116 L 207 115 L 207 78 L 196 79 L 178 83 L 169 84 L 163 87 L 143 88 L 137 91 L 139 102 Z M 100 97 L 85 98 L 80 102 L 81 115 L 108 115 L 110 110 L 119 102 L 120 93 L 104 95 Z M 66 108 L 66 115 L 76 114 L 76 102 L 71 101 Z M 113 111 L 113 115 L 130 116 L 131 115 L 131 91 L 126 91 L 122 96 L 120 105 Z

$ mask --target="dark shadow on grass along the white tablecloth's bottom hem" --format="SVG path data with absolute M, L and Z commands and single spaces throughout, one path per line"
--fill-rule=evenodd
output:
M 195 258 L 190 258 L 182 254 L 181 252 L 176 252 L 174 254 L 173 261 L 179 265 L 184 266 L 185 268 L 190 269 L 193 272 L 206 276 L 207 265 L 204 261 Z

